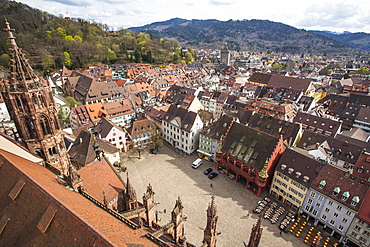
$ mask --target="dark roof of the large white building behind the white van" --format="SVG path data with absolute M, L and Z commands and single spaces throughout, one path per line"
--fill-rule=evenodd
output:
M 170 122 L 174 118 L 177 118 L 181 129 L 190 132 L 196 117 L 197 113 L 195 112 L 188 111 L 176 105 L 171 105 L 166 115 L 163 117 L 163 120 Z

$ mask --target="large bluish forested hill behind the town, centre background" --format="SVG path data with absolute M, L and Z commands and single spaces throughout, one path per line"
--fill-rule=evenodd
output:
M 129 28 L 154 37 L 175 38 L 194 47 L 215 48 L 227 43 L 232 50 L 313 54 L 355 54 L 352 47 L 328 37 L 268 20 L 171 19 Z

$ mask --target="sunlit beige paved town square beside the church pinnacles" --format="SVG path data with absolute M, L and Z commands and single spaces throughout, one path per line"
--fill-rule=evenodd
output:
M 170 221 L 175 201 L 180 197 L 184 205 L 183 212 L 187 216 L 187 240 L 201 245 L 206 226 L 206 210 L 214 195 L 218 214 L 217 231 L 221 232 L 217 237 L 217 246 L 243 246 L 243 242 L 248 243 L 252 225 L 258 218 L 253 209 L 261 198 L 267 196 L 266 192 L 257 197 L 223 174 L 210 180 L 204 171 L 207 168 L 215 171 L 215 163 L 203 160 L 201 166 L 193 169 L 192 163 L 197 158 L 195 154 L 184 157 L 172 148 L 163 146 L 157 154 L 147 150 L 141 155 L 143 158 L 139 159 L 135 150 L 124 153 L 122 163 L 127 167 L 140 201 L 147 185 L 150 183 L 153 186 L 155 201 L 159 202 L 157 209 L 161 225 Z M 126 173 L 121 174 L 126 179 Z M 280 235 L 278 224 L 263 220 L 262 225 L 260 246 L 304 244 L 292 234 Z

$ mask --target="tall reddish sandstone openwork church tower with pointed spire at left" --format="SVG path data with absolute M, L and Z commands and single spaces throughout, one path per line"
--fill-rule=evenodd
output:
M 18 48 L 14 29 L 7 21 L 5 25 L 11 45 L 9 85 L 1 89 L 5 104 L 28 150 L 43 158 L 47 166 L 68 175 L 69 156 L 51 89 L 46 80 L 33 72 Z

